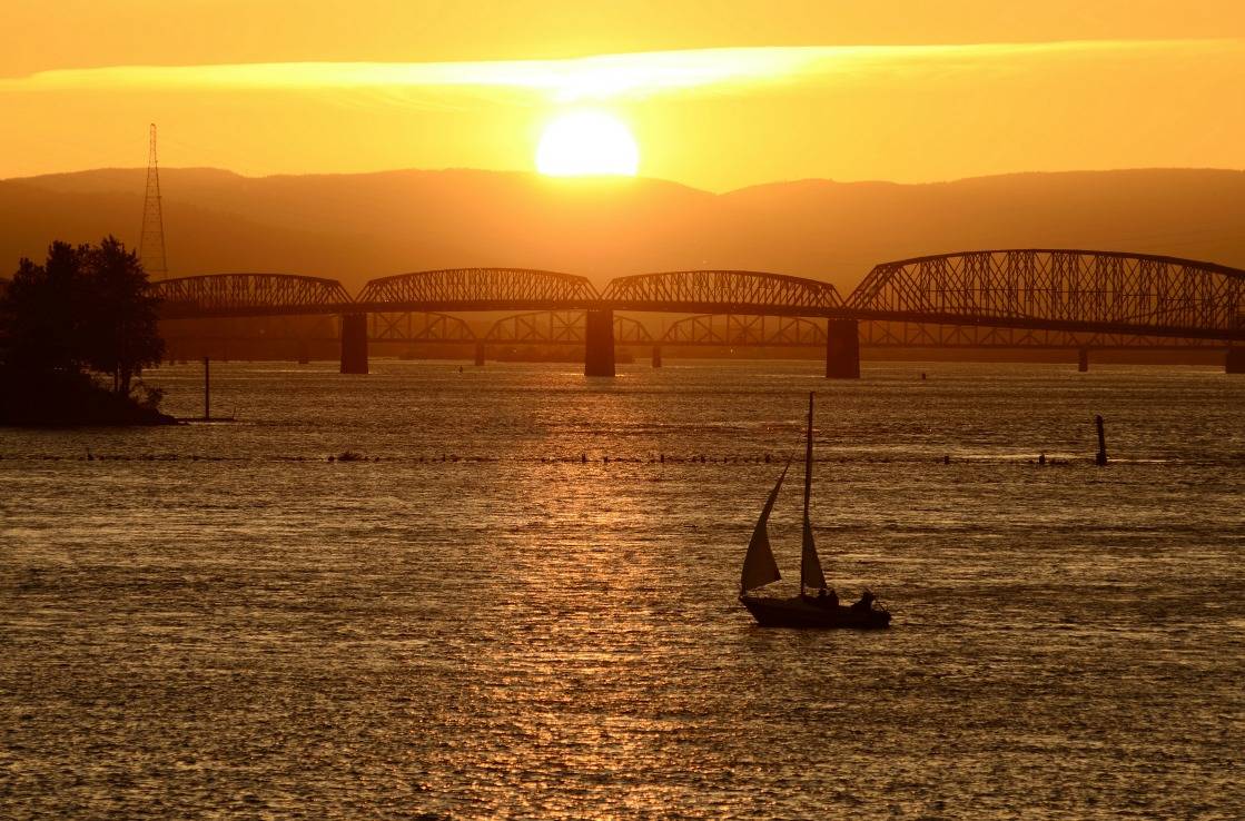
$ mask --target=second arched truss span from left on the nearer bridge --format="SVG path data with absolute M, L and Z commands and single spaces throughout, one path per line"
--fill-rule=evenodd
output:
M 459 267 L 371 280 L 356 300 L 364 311 L 505 311 L 589 307 L 596 289 L 584 276 L 518 267 Z

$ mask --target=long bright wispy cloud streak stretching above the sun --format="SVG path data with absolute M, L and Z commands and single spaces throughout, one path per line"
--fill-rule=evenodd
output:
M 280 62 L 110 66 L 0 80 L 0 92 L 139 90 L 509 90 L 553 102 L 644 98 L 684 90 L 746 91 L 947 71 L 1023 68 L 1051 60 L 1245 53 L 1241 40 L 1067 41 L 967 46 L 706 49 L 492 62 Z

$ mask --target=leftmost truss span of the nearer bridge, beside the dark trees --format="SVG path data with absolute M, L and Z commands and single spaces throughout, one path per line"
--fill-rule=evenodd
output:
M 337 280 L 298 274 L 207 274 L 151 284 L 166 320 L 337 313 L 350 294 Z

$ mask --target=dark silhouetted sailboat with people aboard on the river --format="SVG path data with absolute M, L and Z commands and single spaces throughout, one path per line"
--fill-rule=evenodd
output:
M 766 506 L 752 531 L 748 552 L 743 557 L 740 576 L 740 602 L 748 608 L 762 627 L 854 627 L 874 629 L 890 624 L 890 612 L 876 603 L 873 593 L 865 591 L 860 601 L 852 606 L 839 605 L 838 597 L 828 592 L 822 561 L 813 544 L 813 525 L 808 517 L 808 500 L 813 491 L 813 394 L 808 394 L 808 432 L 804 445 L 804 527 L 799 560 L 799 595 L 789 598 L 759 596 L 757 591 L 782 578 L 778 562 L 769 547 L 769 514 L 773 511 L 778 491 L 787 478 L 791 462 L 783 468 L 778 483 L 769 491 Z M 810 596 L 807 591 L 818 591 Z

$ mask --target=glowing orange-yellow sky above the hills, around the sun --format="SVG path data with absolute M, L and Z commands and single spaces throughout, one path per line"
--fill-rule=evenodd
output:
M 164 165 L 530 170 L 585 107 L 711 190 L 1245 167 L 1238 1 L 4 5 L 0 177 L 141 165 L 152 121 Z

